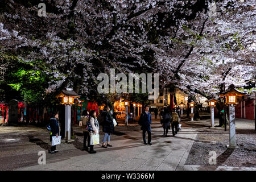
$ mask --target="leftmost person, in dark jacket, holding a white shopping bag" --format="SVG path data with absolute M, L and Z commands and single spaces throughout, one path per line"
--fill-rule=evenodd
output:
M 51 134 L 50 134 L 50 142 L 52 141 L 52 137 L 59 137 L 60 134 L 60 125 L 57 119 L 59 118 L 59 113 L 55 113 L 52 115 L 52 118 L 49 121 L 49 125 L 51 127 Z M 55 154 L 56 152 L 59 152 L 56 150 L 56 146 L 51 146 L 51 151 L 49 151 L 51 154 Z

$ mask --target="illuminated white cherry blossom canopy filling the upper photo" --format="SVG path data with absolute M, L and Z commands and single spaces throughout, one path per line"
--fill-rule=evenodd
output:
M 39 16 L 39 3 L 46 17 Z M 89 95 L 97 76 L 153 72 L 191 93 L 216 96 L 255 79 L 253 0 L 5 0 L 1 53 L 43 61 L 46 93 L 72 86 Z M 34 69 L 40 69 L 35 65 Z

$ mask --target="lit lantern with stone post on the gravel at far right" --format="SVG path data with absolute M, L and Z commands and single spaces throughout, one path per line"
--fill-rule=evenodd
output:
M 235 122 L 235 107 L 237 104 L 237 97 L 245 96 L 244 92 L 234 88 L 230 85 L 229 89 L 220 93 L 220 97 L 226 97 L 226 103 L 229 105 L 229 148 L 236 148 L 236 122 Z

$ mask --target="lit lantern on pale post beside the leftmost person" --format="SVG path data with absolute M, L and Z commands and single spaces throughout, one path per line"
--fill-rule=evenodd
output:
M 65 105 L 65 140 L 71 140 L 71 105 L 74 104 L 74 98 L 79 98 L 79 94 L 72 89 L 61 90 L 61 93 L 56 96 L 61 99 L 61 104 Z

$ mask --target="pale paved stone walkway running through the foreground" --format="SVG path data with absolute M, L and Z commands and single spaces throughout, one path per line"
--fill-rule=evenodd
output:
M 196 134 L 192 129 L 183 128 L 176 137 L 171 137 L 171 133 L 163 137 L 162 130 L 159 122 L 152 125 L 152 146 L 142 143 L 141 131 L 129 131 L 129 134 L 113 135 L 113 147 L 95 146 L 97 154 L 84 151 L 85 155 L 47 160 L 45 165 L 18 170 L 179 170 L 185 164 Z

